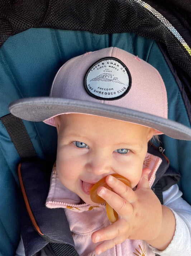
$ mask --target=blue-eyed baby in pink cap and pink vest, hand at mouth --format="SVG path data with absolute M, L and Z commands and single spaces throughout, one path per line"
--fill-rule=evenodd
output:
M 59 69 L 49 98 L 22 99 L 10 111 L 57 128 L 46 206 L 65 208 L 79 255 L 188 255 L 191 206 L 177 185 L 163 192 L 164 205 L 151 189 L 162 159 L 147 152 L 148 142 L 162 133 L 191 140 L 189 128 L 167 119 L 156 69 L 118 48 L 86 53 Z M 113 224 L 90 198 L 104 177 L 113 191 L 101 186 L 97 194 L 117 212 Z

